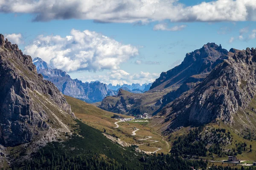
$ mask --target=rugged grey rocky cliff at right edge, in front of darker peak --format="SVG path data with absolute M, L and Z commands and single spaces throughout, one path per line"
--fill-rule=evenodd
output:
M 166 116 L 164 123 L 172 129 L 215 120 L 233 125 L 239 111 L 239 119 L 246 117 L 251 124 L 255 118 L 248 119 L 245 109 L 255 95 L 256 50 L 247 48 L 217 65 L 203 82 L 163 108 L 160 115 Z

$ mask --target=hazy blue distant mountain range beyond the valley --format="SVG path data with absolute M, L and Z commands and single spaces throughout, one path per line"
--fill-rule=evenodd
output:
M 87 103 L 100 102 L 106 96 L 116 95 L 120 88 L 131 93 L 144 93 L 151 86 L 151 83 L 113 86 L 99 81 L 82 82 L 78 79 L 71 79 L 65 71 L 50 67 L 41 58 L 33 59 L 33 64 L 36 66 L 38 73 L 42 74 L 44 79 L 53 82 L 63 94 L 81 99 Z

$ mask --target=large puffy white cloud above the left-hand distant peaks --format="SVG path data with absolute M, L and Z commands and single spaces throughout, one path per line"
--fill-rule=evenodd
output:
M 75 29 L 66 37 L 40 35 L 24 52 L 67 72 L 116 70 L 138 55 L 138 49 L 132 45 L 123 45 L 94 31 Z

